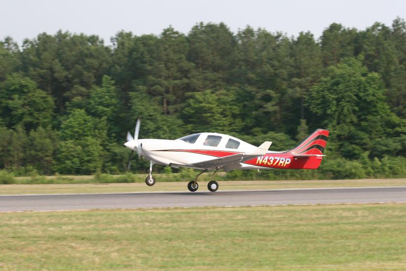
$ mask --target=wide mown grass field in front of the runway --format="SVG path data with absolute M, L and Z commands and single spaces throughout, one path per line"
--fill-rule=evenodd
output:
M 1 270 L 405 270 L 406 204 L 0 213 Z

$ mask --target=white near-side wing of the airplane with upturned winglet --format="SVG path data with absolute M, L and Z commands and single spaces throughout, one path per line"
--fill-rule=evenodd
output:
M 250 160 L 252 158 L 265 155 L 266 151 L 269 149 L 271 146 L 272 142 L 271 141 L 265 141 L 260 145 L 258 148 L 256 148 L 254 151 L 249 152 L 249 153 L 237 153 L 234 155 L 229 155 L 225 157 L 220 157 L 220 158 L 215 158 L 215 159 L 210 159 L 198 163 L 193 163 L 193 165 L 203 168 L 203 169 L 219 169 L 221 167 L 224 167 L 225 165 L 228 164 L 234 164 L 234 163 L 241 163 L 247 160 Z

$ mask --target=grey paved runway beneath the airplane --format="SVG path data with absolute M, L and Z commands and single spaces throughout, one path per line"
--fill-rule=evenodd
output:
M 0 212 L 406 202 L 406 187 L 0 196 Z

